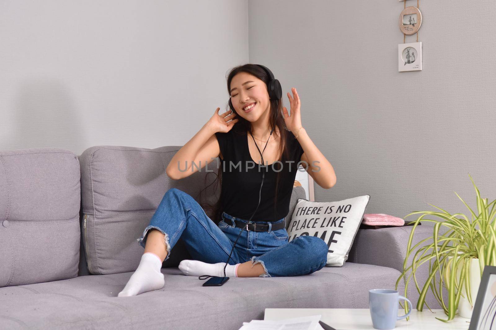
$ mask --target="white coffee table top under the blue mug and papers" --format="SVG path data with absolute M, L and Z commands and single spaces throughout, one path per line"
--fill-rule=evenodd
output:
M 419 312 L 416 309 L 410 314 L 410 319 L 396 322 L 396 329 L 408 330 L 467 330 L 470 319 L 459 316 L 448 323 L 436 320 L 438 317 L 447 320 L 442 309 L 433 309 L 432 313 L 428 308 Z M 264 320 L 283 320 L 301 316 L 311 316 L 321 314 L 322 322 L 336 330 L 374 330 L 372 319 L 368 308 L 266 308 Z M 405 310 L 399 309 L 398 316 L 404 315 Z

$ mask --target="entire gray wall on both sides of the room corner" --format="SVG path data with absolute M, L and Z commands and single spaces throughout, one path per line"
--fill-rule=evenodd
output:
M 315 186 L 315 200 L 370 194 L 368 213 L 404 217 L 432 203 L 468 214 L 453 192 L 475 207 L 468 173 L 496 198 L 496 4 L 421 1 L 423 71 L 400 73 L 402 9 L 0 1 L 0 150 L 184 144 L 225 108 L 228 70 L 249 61 L 301 96 L 303 124 L 337 175 L 332 189 Z

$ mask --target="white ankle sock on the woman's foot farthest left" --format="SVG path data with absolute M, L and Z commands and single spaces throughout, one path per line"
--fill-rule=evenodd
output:
M 138 268 L 119 292 L 118 297 L 129 297 L 137 294 L 157 290 L 164 286 L 164 274 L 160 272 L 162 261 L 151 252 L 143 253 Z

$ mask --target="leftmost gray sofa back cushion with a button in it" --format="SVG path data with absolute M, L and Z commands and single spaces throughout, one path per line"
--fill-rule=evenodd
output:
M 77 276 L 80 171 L 61 148 L 0 152 L 0 286 Z

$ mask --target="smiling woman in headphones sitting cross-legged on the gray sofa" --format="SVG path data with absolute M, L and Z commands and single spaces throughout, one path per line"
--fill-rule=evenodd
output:
M 224 268 L 228 277 L 299 276 L 325 266 L 324 240 L 300 236 L 288 242 L 285 216 L 300 161 L 322 188 L 332 188 L 336 176 L 302 127 L 296 89 L 293 95 L 287 94 L 289 115 L 282 97 L 274 96 L 282 95 L 281 91 L 269 90 L 271 75 L 256 64 L 232 69 L 227 78 L 231 110 L 219 115 L 217 108 L 167 166 L 167 175 L 179 180 L 219 157 L 223 180 L 215 214 L 222 211 L 222 221 L 214 223 L 186 192 L 169 189 L 137 239 L 145 250 L 119 296 L 163 287 L 162 262 L 180 237 L 194 259 L 179 265 L 188 276 L 220 277 Z M 281 112 L 283 117 L 278 115 Z M 191 166 L 192 162 L 196 165 Z

